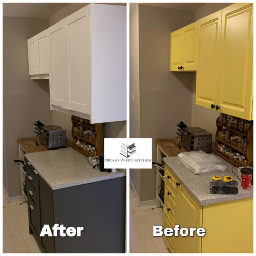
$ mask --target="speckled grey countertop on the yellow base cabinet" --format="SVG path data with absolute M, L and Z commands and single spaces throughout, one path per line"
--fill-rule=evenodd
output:
M 205 174 L 193 174 L 177 159 L 177 157 L 165 157 L 163 158 L 163 161 L 170 167 L 170 169 L 173 170 L 177 178 L 184 184 L 184 186 L 190 191 L 190 193 L 201 205 L 215 204 L 230 200 L 253 197 L 253 186 L 250 190 L 242 189 L 240 180 L 231 171 L 233 165 L 220 158 L 219 156 L 215 156 L 227 166 L 227 170 L 225 172 L 217 171 Z M 234 168 L 235 173 L 237 173 L 236 169 L 237 168 Z M 238 181 L 238 194 L 210 194 L 209 182 L 214 175 L 221 176 L 222 178 L 228 175 L 232 176 L 234 180 Z

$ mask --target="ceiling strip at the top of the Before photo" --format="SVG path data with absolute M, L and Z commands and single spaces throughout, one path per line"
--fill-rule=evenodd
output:
M 165 7 L 172 9 L 180 9 L 186 11 L 196 11 L 206 3 L 140 3 L 140 5 L 151 5 L 156 7 Z

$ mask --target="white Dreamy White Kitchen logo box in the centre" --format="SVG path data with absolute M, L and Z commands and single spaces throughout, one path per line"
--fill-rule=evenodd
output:
M 105 138 L 105 169 L 151 169 L 151 138 Z

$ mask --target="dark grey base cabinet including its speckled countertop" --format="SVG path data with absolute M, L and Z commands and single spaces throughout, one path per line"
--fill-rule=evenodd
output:
M 42 252 L 124 253 L 124 170 L 93 168 L 73 148 L 25 154 L 29 228 Z M 40 237 L 44 225 L 84 227 L 81 237 Z

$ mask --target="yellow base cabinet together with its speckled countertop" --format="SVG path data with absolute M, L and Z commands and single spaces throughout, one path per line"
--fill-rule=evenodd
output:
M 204 237 L 165 237 L 173 253 L 251 253 L 253 252 L 253 186 L 243 190 L 225 163 L 225 172 L 195 175 L 177 159 L 165 162 L 164 227 L 203 227 Z M 235 170 L 234 170 L 235 171 Z M 210 194 L 212 176 L 232 176 L 238 181 L 238 194 Z

